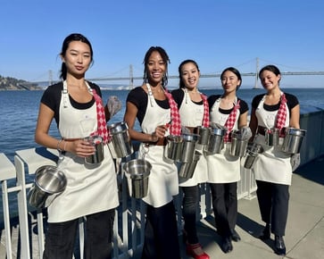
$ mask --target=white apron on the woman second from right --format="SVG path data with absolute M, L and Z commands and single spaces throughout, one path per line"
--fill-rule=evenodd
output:
M 224 126 L 229 114 L 220 113 L 220 100 L 220 98 L 217 99 L 215 104 L 212 105 L 212 109 L 210 109 L 211 122 Z M 237 129 L 239 115 L 239 109 L 237 109 L 237 118 L 232 130 Z M 206 155 L 208 182 L 230 183 L 241 180 L 240 158 L 230 155 L 230 146 L 231 143 L 226 143 L 220 154 Z

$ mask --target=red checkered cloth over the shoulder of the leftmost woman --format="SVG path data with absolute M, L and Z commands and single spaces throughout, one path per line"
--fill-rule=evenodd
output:
M 98 123 L 96 132 L 93 132 L 91 135 L 99 135 L 104 138 L 104 143 L 108 143 L 111 141 L 112 136 L 110 136 L 108 129 L 107 129 L 107 121 L 105 121 L 105 114 L 104 114 L 104 106 L 103 100 L 100 96 L 96 94 L 96 90 L 92 89 L 94 94 L 94 98 L 96 100 L 96 121 Z

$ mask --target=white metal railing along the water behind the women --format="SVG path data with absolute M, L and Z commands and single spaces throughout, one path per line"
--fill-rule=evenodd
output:
M 316 127 L 314 127 L 316 125 Z M 307 129 L 307 135 L 301 150 L 302 164 L 324 154 L 324 111 L 307 113 L 301 115 L 301 129 Z M 26 176 L 34 174 L 37 168 L 47 164 L 55 164 L 57 151 L 45 147 L 30 148 L 16 151 L 14 163 L 4 154 L 0 154 L 0 181 L 2 183 L 2 200 L 4 211 L 4 238 L 6 258 L 42 258 L 44 250 L 44 221 L 46 211 L 35 211 L 28 205 L 27 193 L 31 182 L 26 182 Z M 144 242 L 145 204 L 137 199 L 130 198 L 127 180 L 118 174 L 120 187 L 120 206 L 116 209 L 113 236 L 113 257 L 130 258 Z M 15 181 L 13 187 L 8 186 L 8 180 Z M 241 168 L 241 180 L 237 185 L 237 196 L 239 199 L 253 198 L 255 181 L 251 171 Z M 9 194 L 17 198 L 19 236 L 18 240 L 12 238 Z M 207 184 L 200 186 L 201 211 L 200 218 L 212 213 L 212 201 L 210 189 Z M 181 194 L 179 195 L 181 196 Z M 182 229 L 181 202 L 180 197 L 175 198 L 178 215 L 179 233 Z M 36 219 L 35 219 L 36 217 Z M 37 227 L 37 230 L 36 230 Z M 34 234 L 34 232 L 37 234 Z M 1 237 L 1 236 L 0 236 Z M 79 224 L 79 255 L 83 258 L 83 221 Z M 12 248 L 13 247 L 13 248 Z M 18 252 L 17 252 L 18 251 Z M 19 255 L 17 255 L 17 253 Z

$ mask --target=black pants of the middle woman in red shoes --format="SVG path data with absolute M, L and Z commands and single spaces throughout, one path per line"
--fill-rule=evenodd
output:
M 187 232 L 187 242 L 197 244 L 199 242 L 196 230 L 196 211 L 199 207 L 198 186 L 182 187 L 184 197 L 182 200 L 182 214 Z

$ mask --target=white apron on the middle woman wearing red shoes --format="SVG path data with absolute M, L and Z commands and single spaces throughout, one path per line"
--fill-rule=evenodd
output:
M 195 104 L 185 90 L 184 100 L 182 101 L 179 113 L 181 124 L 183 126 L 194 128 L 201 126 L 204 118 L 204 104 Z M 208 180 L 207 163 L 203 154 L 203 145 L 197 145 L 196 151 L 202 155 L 200 156 L 195 167 L 194 175 L 188 180 L 179 177 L 179 186 L 181 187 L 196 186 L 199 183 L 203 183 Z

